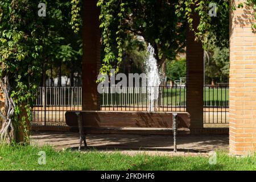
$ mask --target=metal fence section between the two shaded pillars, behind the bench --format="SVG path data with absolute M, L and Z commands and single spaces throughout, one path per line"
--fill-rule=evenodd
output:
M 101 110 L 185 111 L 185 87 L 109 87 L 101 94 Z

